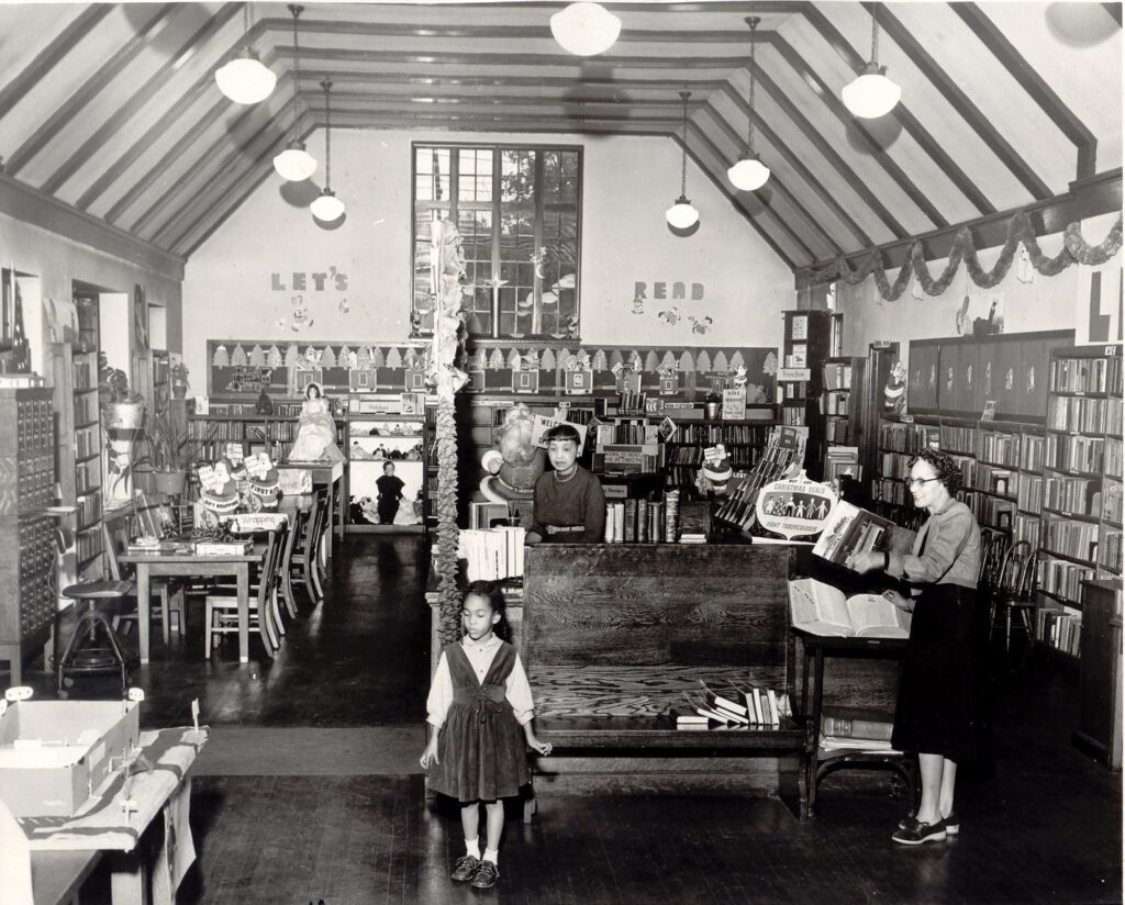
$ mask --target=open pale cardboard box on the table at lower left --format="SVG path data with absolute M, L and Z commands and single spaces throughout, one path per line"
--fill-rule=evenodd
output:
M 0 715 L 0 799 L 17 817 L 70 817 L 137 745 L 132 700 L 21 700 Z

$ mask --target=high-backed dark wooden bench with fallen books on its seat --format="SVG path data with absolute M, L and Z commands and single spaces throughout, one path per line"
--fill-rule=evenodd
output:
M 780 795 L 808 814 L 811 740 L 780 727 L 676 730 L 666 713 L 699 680 L 786 687 L 790 547 L 541 544 L 529 547 L 519 646 L 536 697 L 536 796 Z

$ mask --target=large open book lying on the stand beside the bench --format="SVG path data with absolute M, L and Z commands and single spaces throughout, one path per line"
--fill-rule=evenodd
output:
M 800 578 L 789 582 L 789 608 L 794 628 L 836 637 L 909 637 L 910 614 L 878 594 L 844 591 Z

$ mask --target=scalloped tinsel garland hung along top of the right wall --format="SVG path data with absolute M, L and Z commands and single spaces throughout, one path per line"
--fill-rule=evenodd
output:
M 961 227 L 950 248 L 948 262 L 942 275 L 936 280 L 929 275 L 929 268 L 926 265 L 926 253 L 922 243 L 915 239 L 910 243 L 907 259 L 899 269 L 899 275 L 894 282 L 886 279 L 886 268 L 883 264 L 883 254 L 874 251 L 864 257 L 858 265 L 853 269 L 845 257 L 839 257 L 826 268 L 811 272 L 811 281 L 826 282 L 839 278 L 848 286 L 857 286 L 867 277 L 874 275 L 875 286 L 879 293 L 886 301 L 897 301 L 910 284 L 910 277 L 917 277 L 918 283 L 930 296 L 940 296 L 950 288 L 953 278 L 964 262 L 969 277 L 976 286 L 990 289 L 997 286 L 1011 269 L 1016 252 L 1023 243 L 1027 248 L 1032 265 L 1037 273 L 1044 277 L 1054 277 L 1062 273 L 1072 264 L 1104 264 L 1113 257 L 1122 246 L 1122 217 L 1117 218 L 1109 235 L 1098 245 L 1090 245 L 1082 237 L 1081 224 L 1072 223 L 1063 230 L 1063 247 L 1054 257 L 1048 257 L 1040 251 L 1038 241 L 1035 238 L 1035 230 L 1032 227 L 1032 218 L 1026 211 L 1016 214 L 1008 224 L 1008 237 L 1000 251 L 992 270 L 984 270 L 976 257 L 976 247 L 973 244 L 973 235 L 968 227 Z

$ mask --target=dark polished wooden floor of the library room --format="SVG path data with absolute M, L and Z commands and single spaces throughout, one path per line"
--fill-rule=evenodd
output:
M 240 667 L 231 639 L 208 663 L 198 616 L 187 643 L 158 641 L 135 676 L 147 725 L 188 722 L 199 697 L 216 740 L 252 726 L 309 749 L 300 730 L 335 730 L 300 757 L 245 733 L 258 775 L 197 777 L 199 860 L 179 905 L 1122 902 L 1120 777 L 1070 745 L 1077 673 L 1034 662 L 997 682 L 996 758 L 962 771 L 956 840 L 893 845 L 904 804 L 881 776 L 836 775 L 804 824 L 772 799 L 556 798 L 531 827 L 510 820 L 494 890 L 454 887 L 456 808 L 425 799 L 399 750 L 424 718 L 424 567 L 418 539 L 349 539 L 328 600 L 303 608 L 272 662 Z M 349 728 L 367 744 L 382 731 L 387 757 L 341 768 Z M 106 901 L 104 878 L 86 892 Z

